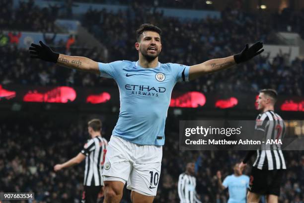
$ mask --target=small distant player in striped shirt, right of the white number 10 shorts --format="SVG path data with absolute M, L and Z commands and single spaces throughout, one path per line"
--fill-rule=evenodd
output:
M 189 162 L 186 165 L 186 171 L 178 178 L 178 197 L 180 203 L 201 203 L 196 193 L 195 164 Z

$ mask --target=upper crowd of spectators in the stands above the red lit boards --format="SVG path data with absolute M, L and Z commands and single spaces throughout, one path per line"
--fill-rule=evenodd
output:
M 11 1 L 4 0 L 3 3 L 11 4 Z M 71 3 L 73 4 L 73 1 Z M 31 22 L 37 21 L 37 23 L 32 24 L 49 27 L 49 24 L 52 24 L 57 16 L 56 9 L 51 6 L 37 8 L 38 10 L 45 10 L 39 10 L 39 16 L 35 16 L 35 14 L 31 14 L 37 10 L 32 0 L 28 2 L 20 1 L 19 4 L 19 8 L 14 11 L 9 10 L 7 5 L 2 7 L 3 12 L 0 15 L 6 13 L 1 17 L 3 22 L 11 23 L 8 19 L 5 19 L 5 16 L 7 17 L 7 12 L 13 12 L 15 15 L 21 16 L 18 19 L 24 18 L 24 15 L 31 15 L 29 17 L 30 19 L 33 18 Z M 253 43 L 258 40 L 264 43 L 274 42 L 273 33 L 276 31 L 277 24 L 272 22 L 266 13 L 256 15 L 227 7 L 222 11 L 222 18 L 220 19 L 207 17 L 201 20 L 181 20 L 163 16 L 163 13 L 149 9 L 149 6 L 148 4 L 146 7 L 142 7 L 142 4 L 138 1 L 132 1 L 129 9 L 120 10 L 118 13 L 109 12 L 105 9 L 97 11 L 90 8 L 82 16 L 82 25 L 102 43 L 101 50 L 94 47 L 88 49 L 78 46 L 76 48 L 74 44 L 71 45 L 71 48 L 69 45 L 68 49 L 68 42 L 53 43 L 56 34 L 53 38 L 46 37 L 44 34 L 44 39 L 53 46 L 56 52 L 68 55 L 85 56 L 99 62 L 136 61 L 138 60 L 138 53 L 134 48 L 135 30 L 143 22 L 150 22 L 159 26 L 163 31 L 163 49 L 159 55 L 159 61 L 161 63 L 172 62 L 189 66 L 209 59 L 238 53 L 246 43 Z M 20 14 L 24 7 L 29 8 L 31 12 Z M 282 15 L 289 16 L 286 12 Z M 47 15 L 47 17 L 44 15 Z M 25 18 L 27 19 L 27 17 Z M 44 22 L 45 20 L 46 22 Z M 286 23 L 290 22 L 289 20 L 285 21 Z M 19 27 L 17 21 L 12 20 L 12 22 L 13 26 Z M 22 21 L 21 24 L 24 26 L 26 22 Z M 22 26 L 20 25 L 20 29 L 24 30 L 25 28 Z M 27 28 L 36 31 L 49 31 L 49 28 L 43 27 L 30 26 Z M 1 36 L 4 35 L 0 33 Z M 109 79 L 73 70 L 55 68 L 56 65 L 40 60 L 31 60 L 27 50 L 16 47 L 18 37 L 20 37 L 19 33 L 9 32 L 8 37 L 9 40 L 7 39 L 7 41 L 9 43 L 0 47 L 3 56 L 0 59 L 2 65 L 0 81 L 3 85 L 116 86 L 115 82 Z M 203 93 L 221 94 L 229 92 L 256 93 L 259 89 L 273 88 L 282 95 L 303 96 L 303 77 L 303 60 L 295 59 L 291 61 L 290 54 L 283 54 L 282 52 L 274 58 L 269 58 L 269 53 L 263 53 L 262 56 L 255 57 L 253 60 L 227 71 L 207 75 L 187 84 L 178 84 L 175 90 L 196 90 Z

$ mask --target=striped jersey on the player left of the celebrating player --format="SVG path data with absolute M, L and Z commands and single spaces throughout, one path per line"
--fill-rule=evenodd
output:
M 84 186 L 102 186 L 102 169 L 108 142 L 101 136 L 89 139 L 81 153 L 85 155 Z

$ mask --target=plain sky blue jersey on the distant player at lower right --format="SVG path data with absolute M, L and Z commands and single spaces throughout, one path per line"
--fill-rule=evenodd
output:
M 223 186 L 228 188 L 228 203 L 246 203 L 247 188 L 249 188 L 248 176 L 235 176 L 232 174 L 225 178 Z

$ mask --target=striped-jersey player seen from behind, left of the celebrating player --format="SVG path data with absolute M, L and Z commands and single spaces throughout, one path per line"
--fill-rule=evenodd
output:
M 79 164 L 85 158 L 84 191 L 82 193 L 81 202 L 96 203 L 98 194 L 101 193 L 101 196 L 104 194 L 102 169 L 108 142 L 101 135 L 102 123 L 99 119 L 92 119 L 87 125 L 87 130 L 91 139 L 84 144 L 83 149 L 76 157 L 63 164 L 55 165 L 54 170 L 60 171 L 63 168 Z

